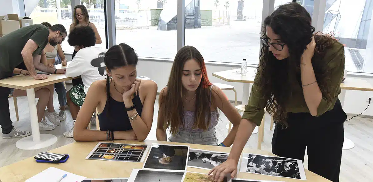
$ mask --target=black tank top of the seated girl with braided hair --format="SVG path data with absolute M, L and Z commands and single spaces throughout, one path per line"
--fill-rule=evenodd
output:
M 138 116 L 141 116 L 142 103 L 137 91 L 137 95 L 132 99 Z M 129 105 L 128 107 L 131 107 Z M 126 106 L 123 102 L 114 100 L 111 96 L 106 100 L 105 108 L 98 115 L 101 131 L 127 131 L 132 130 L 131 123 L 128 119 L 128 114 L 125 110 Z M 135 122 L 135 121 L 134 121 Z

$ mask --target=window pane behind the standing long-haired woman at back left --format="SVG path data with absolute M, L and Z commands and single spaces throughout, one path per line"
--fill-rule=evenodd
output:
M 106 47 L 103 3 L 103 0 L 81 0 L 81 4 L 88 9 L 90 22 L 94 23 L 101 36 L 102 43 L 96 45 L 100 47 Z M 51 25 L 62 24 L 69 33 L 70 25 L 73 22 L 72 16 L 71 0 L 40 0 L 32 11 L 30 18 L 33 19 L 34 24 L 43 22 L 48 22 Z M 68 38 L 62 42 L 62 50 L 64 52 L 74 52 L 74 47 L 70 46 L 67 40 Z

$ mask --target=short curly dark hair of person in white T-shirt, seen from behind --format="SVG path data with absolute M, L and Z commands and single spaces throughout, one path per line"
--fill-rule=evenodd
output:
M 90 26 L 79 25 L 69 33 L 68 43 L 70 46 L 90 47 L 96 44 L 96 36 Z

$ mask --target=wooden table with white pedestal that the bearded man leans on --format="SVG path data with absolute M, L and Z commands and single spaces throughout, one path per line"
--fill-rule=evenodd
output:
M 68 62 L 69 63 L 69 62 Z M 67 68 L 67 66 L 56 65 L 56 68 Z M 23 150 L 35 150 L 41 149 L 52 145 L 57 141 L 57 137 L 52 134 L 40 134 L 38 115 L 36 110 L 35 102 L 35 90 L 34 88 L 42 87 L 50 84 L 55 84 L 63 81 L 68 81 L 70 77 L 66 77 L 65 74 L 50 74 L 48 79 L 37 80 L 31 76 L 17 75 L 10 78 L 0 80 L 0 87 L 15 88 L 20 90 L 26 90 L 28 107 L 30 112 L 31 120 L 31 131 L 32 136 L 24 137 L 18 140 L 16 146 Z

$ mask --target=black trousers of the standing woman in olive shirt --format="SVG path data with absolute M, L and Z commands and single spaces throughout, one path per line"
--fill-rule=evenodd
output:
M 308 170 L 339 182 L 346 118 L 339 99 L 332 110 L 319 117 L 288 113 L 288 127 L 282 129 L 279 124 L 275 127 L 272 153 L 303 161 L 307 147 Z

